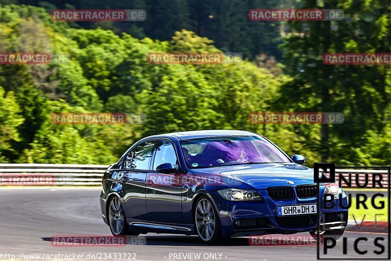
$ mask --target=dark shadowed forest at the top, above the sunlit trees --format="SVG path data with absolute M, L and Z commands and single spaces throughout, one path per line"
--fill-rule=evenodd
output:
M 117 34 L 129 33 L 142 39 L 150 37 L 168 41 L 176 31 L 191 30 L 214 40 L 225 52 L 240 52 L 255 58 L 268 53 L 278 59 L 282 44 L 278 22 L 254 23 L 247 18 L 252 8 L 278 8 L 285 0 L 0 0 L 1 3 L 29 4 L 53 9 L 144 9 L 148 19 L 143 23 L 72 22 L 75 28 L 100 26 Z M 291 1 L 289 7 L 298 5 Z

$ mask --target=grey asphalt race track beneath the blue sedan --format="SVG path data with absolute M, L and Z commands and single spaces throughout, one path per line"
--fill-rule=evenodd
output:
M 147 234 L 137 239 L 140 244 L 114 247 L 53 246 L 51 241 L 53 236 L 111 235 L 109 227 L 101 217 L 99 194 L 100 188 L 96 187 L 1 188 L 0 260 L 10 259 L 10 255 L 15 255 L 16 259 L 45 259 L 42 256 L 41 258 L 27 256 L 32 254 L 84 254 L 83 258 L 77 256 L 70 258 L 73 260 L 316 260 L 316 244 L 250 246 L 248 237 L 233 238 L 221 245 L 203 245 L 195 236 Z M 296 236 L 307 235 L 308 233 L 296 234 Z M 346 232 L 344 236 L 348 237 L 348 256 L 351 254 L 351 257 L 357 258 L 352 246 L 357 237 L 368 238 L 368 241 L 361 241 L 359 247 L 370 253 L 379 249 L 373 245 L 373 239 L 379 236 L 385 237 L 387 253 L 387 234 Z M 340 241 L 342 240 L 338 242 Z M 348 257 L 342 255 L 340 244 L 334 247 L 332 252 L 335 254 L 332 257 Z M 114 258 L 114 253 L 129 255 Z M 5 256 L 7 254 L 8 256 Z M 98 255 L 91 258 L 93 254 Z M 381 257 L 386 258 L 387 255 Z

